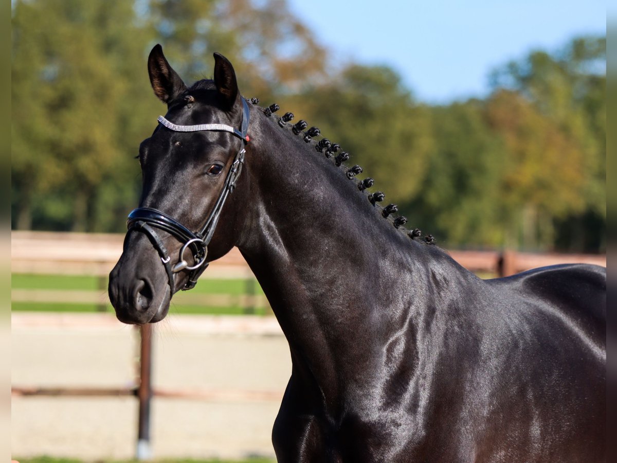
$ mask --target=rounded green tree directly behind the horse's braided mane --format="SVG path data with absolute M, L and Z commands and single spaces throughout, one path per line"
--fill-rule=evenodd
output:
M 386 193 L 386 202 L 400 205 L 418 193 L 433 144 L 429 110 L 413 101 L 394 70 L 350 65 L 289 105 L 341 144 L 350 153 L 347 164 L 361 165 L 362 177 L 375 179 L 373 188 Z

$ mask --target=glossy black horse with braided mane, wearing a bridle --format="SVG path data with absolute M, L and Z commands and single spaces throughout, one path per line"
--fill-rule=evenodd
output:
M 163 319 L 238 246 L 291 351 L 279 461 L 602 461 L 605 269 L 477 278 L 406 230 L 317 128 L 247 104 L 214 57 L 214 79 L 187 88 L 160 46 L 149 56 L 168 111 L 139 149 L 140 207 L 109 282 L 118 319 Z

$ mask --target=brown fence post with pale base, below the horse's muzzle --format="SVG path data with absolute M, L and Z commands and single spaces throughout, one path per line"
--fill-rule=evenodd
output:
M 152 325 L 141 325 L 140 361 L 139 361 L 139 423 L 137 436 L 138 460 L 152 458 L 150 446 L 150 404 L 152 399 Z

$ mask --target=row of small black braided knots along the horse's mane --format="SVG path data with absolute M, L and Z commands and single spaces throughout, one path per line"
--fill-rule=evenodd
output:
M 251 98 L 247 99 L 247 101 L 250 101 L 252 104 L 257 105 L 259 103 L 259 98 Z M 286 112 L 281 117 L 274 114 L 280 109 L 278 104 L 273 103 L 267 108 L 259 107 L 259 109 L 266 117 L 275 120 L 281 128 L 291 130 L 292 135 L 302 136 L 302 140 L 304 140 L 305 143 L 312 144 L 313 148 L 315 148 L 315 151 L 320 152 L 327 159 L 331 159 L 333 154 L 336 154 L 341 150 L 341 145 L 339 145 L 338 143 L 331 143 L 331 141 L 329 141 L 327 138 L 321 138 L 321 140 L 316 141 L 315 137 L 321 135 L 321 131 L 317 127 L 311 127 L 309 128 L 309 130 L 303 131 L 309 126 L 309 124 L 305 120 L 300 119 L 297 123 L 293 125 L 289 123 L 292 119 L 294 119 L 294 114 L 292 112 Z M 341 151 L 339 154 L 336 155 L 336 157 L 334 157 L 334 166 L 337 167 L 337 169 L 342 170 L 345 173 L 346 177 L 352 180 L 356 175 L 362 173 L 362 167 L 360 167 L 359 165 L 347 167 L 343 163 L 348 159 L 349 153 L 347 153 L 346 151 Z M 375 183 L 375 181 L 373 180 L 373 178 L 370 177 L 365 178 L 364 180 L 360 180 L 359 183 L 357 183 L 358 190 L 364 194 L 365 190 L 373 186 L 373 183 Z M 375 191 L 374 193 L 368 194 L 368 201 L 370 201 L 374 207 L 378 207 L 381 210 L 381 215 L 384 217 L 384 219 L 392 223 L 392 226 L 394 228 L 402 231 L 402 233 L 405 233 L 405 235 L 407 235 L 412 241 L 416 241 L 416 243 L 424 243 L 431 245 L 435 244 L 436 240 L 433 235 L 425 235 L 421 240 L 416 239 L 421 237 L 422 232 L 418 228 L 414 228 L 413 230 L 408 230 L 407 228 L 405 228 L 404 225 L 405 223 L 407 223 L 407 217 L 404 217 L 404 215 L 392 217 L 392 214 L 395 214 L 395 212 L 398 211 L 398 206 L 396 204 L 388 204 L 385 207 L 377 204 L 378 202 L 382 202 L 384 198 L 385 195 L 381 191 Z

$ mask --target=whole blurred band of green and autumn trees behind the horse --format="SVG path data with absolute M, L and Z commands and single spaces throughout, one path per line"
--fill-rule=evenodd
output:
M 604 38 L 504 64 L 484 99 L 428 106 L 388 67 L 326 67 L 285 0 L 12 6 L 14 227 L 122 231 L 133 157 L 164 112 L 146 72 L 162 43 L 187 81 L 225 54 L 245 96 L 320 127 L 446 248 L 605 246 Z

